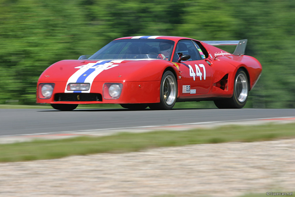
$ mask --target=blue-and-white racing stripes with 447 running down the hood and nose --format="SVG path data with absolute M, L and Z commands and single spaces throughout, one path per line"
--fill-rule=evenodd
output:
M 97 75 L 99 75 L 102 71 L 114 68 L 118 66 L 124 60 L 100 60 L 94 63 L 89 63 L 82 66 L 77 66 L 75 69 L 78 69 L 70 78 L 65 86 L 65 93 L 70 92 L 82 92 L 80 91 L 70 91 L 67 90 L 67 86 L 69 83 L 90 83 L 90 88 L 87 91 L 83 91 L 85 93 L 89 93 L 91 89 L 91 85 L 93 80 Z

